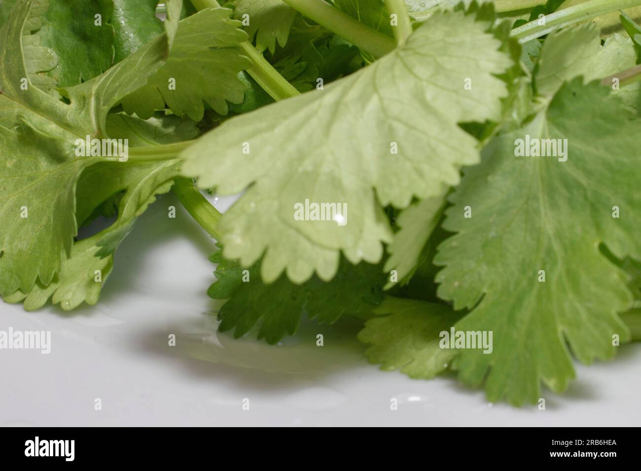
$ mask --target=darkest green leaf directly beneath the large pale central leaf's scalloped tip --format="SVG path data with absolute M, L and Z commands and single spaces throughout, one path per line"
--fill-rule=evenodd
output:
M 302 315 L 328 324 L 342 315 L 367 317 L 383 298 L 385 277 L 379 265 L 354 266 L 343 260 L 329 283 L 313 277 L 303 285 L 294 285 L 281 276 L 267 285 L 260 279 L 260 262 L 244 270 L 237 261 L 223 260 L 221 251 L 210 260 L 219 263 L 215 271 L 218 281 L 207 293 L 213 299 L 228 299 L 218 314 L 219 330 L 233 330 L 235 338 L 260 324 L 258 338 L 276 343 L 285 335 L 294 335 Z

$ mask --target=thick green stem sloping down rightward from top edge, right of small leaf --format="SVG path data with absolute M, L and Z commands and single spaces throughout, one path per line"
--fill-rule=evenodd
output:
M 325 0 L 283 0 L 313 21 L 378 58 L 394 50 L 391 38 L 369 28 Z

